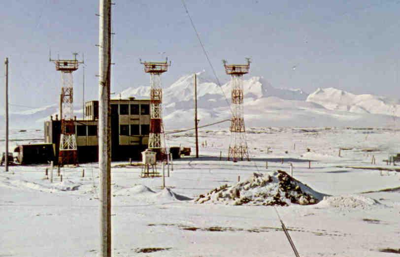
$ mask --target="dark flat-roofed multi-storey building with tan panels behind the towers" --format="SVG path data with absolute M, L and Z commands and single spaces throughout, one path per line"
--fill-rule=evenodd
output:
M 99 102 L 85 103 L 85 117 L 75 120 L 76 144 L 79 162 L 99 160 Z M 150 130 L 150 100 L 111 100 L 111 160 L 140 160 L 140 153 L 147 148 Z M 55 144 L 58 156 L 61 121 L 50 120 L 44 124 L 44 141 Z M 56 160 L 55 160 L 56 161 Z

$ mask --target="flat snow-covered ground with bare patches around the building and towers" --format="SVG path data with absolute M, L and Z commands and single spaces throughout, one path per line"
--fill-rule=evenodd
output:
M 400 131 L 248 128 L 251 161 L 233 163 L 226 160 L 224 129 L 200 131 L 201 158 L 174 160 L 165 190 L 161 178 L 140 178 L 140 167 L 113 163 L 113 256 L 293 256 L 274 207 L 195 202 L 236 185 L 238 176 L 290 174 L 289 162 L 296 180 L 332 195 L 315 205 L 275 207 L 300 256 L 396 256 L 380 250 L 400 248 L 400 189 L 380 190 L 399 187 L 400 172 L 359 168 L 399 168 L 383 160 L 400 152 Z M 42 133 L 12 131 L 11 138 L 25 140 L 12 143 Z M 167 144 L 193 146 L 193 139 L 191 132 L 168 134 Z M 97 163 L 62 168 L 63 182 L 55 171 L 53 183 L 44 179 L 48 167 L 11 166 L 0 173 L 0 256 L 97 256 Z

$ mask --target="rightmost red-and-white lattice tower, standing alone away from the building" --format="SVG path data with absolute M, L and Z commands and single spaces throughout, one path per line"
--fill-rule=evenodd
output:
M 232 85 L 232 120 L 231 120 L 231 143 L 228 150 L 228 161 L 232 158 L 234 162 L 240 158 L 249 159 L 249 151 L 246 142 L 246 130 L 243 119 L 243 74 L 249 73 L 250 59 L 246 58 L 247 64 L 227 64 L 223 60 L 225 71 L 231 75 Z

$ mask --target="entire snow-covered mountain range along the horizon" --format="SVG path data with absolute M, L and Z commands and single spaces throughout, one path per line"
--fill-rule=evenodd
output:
M 164 85 L 164 121 L 167 129 L 194 125 L 194 75 L 185 75 Z M 200 126 L 231 117 L 230 82 L 221 87 L 204 71 L 197 73 Z M 386 127 L 400 117 L 400 101 L 373 95 L 353 95 L 334 88 L 318 89 L 308 95 L 301 90 L 277 89 L 261 76 L 243 81 L 246 126 L 354 126 Z M 150 87 L 131 87 L 113 98 L 149 98 Z M 225 98 L 227 97 L 227 98 Z M 58 112 L 57 105 L 12 113 L 14 128 L 41 128 L 43 121 Z M 78 108 L 77 108 L 78 109 Z M 79 117 L 82 110 L 75 110 Z M 0 122 L 2 117 L 0 116 Z M 228 124 L 221 124 L 228 128 Z

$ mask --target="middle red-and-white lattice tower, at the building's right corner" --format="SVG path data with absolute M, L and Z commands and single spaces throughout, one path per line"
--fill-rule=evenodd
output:
M 168 58 L 165 62 L 142 62 L 144 72 L 150 73 L 150 133 L 148 148 L 157 153 L 157 160 L 166 158 L 166 143 L 163 125 L 163 87 L 161 74 L 168 70 Z

